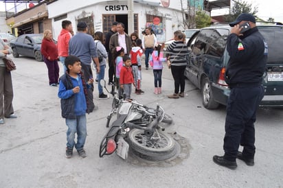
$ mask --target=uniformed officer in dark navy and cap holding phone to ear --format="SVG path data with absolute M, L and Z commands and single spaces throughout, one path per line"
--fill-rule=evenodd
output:
M 243 24 L 249 25 L 250 29 L 242 32 Z M 256 110 L 264 96 L 262 75 L 267 63 L 268 47 L 258 32 L 256 19 L 252 14 L 240 14 L 230 26 L 231 34 L 227 38 L 230 59 L 225 82 L 229 84 L 231 93 L 225 121 L 225 154 L 214 156 L 213 161 L 218 165 L 236 169 L 236 158 L 249 166 L 254 164 L 254 122 Z M 239 145 L 243 147 L 242 152 L 238 152 Z

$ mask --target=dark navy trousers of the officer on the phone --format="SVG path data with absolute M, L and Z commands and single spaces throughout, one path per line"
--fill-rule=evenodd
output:
M 227 102 L 225 121 L 224 157 L 236 161 L 239 145 L 244 147 L 242 154 L 253 158 L 256 147 L 255 128 L 256 110 L 264 95 L 262 86 L 232 88 Z

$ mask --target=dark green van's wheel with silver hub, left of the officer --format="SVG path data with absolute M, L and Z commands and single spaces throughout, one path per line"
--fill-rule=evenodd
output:
M 212 95 L 212 87 L 210 85 L 210 80 L 208 78 L 203 78 L 202 86 L 201 86 L 201 94 L 203 95 L 203 106 L 207 109 L 215 109 L 219 106 L 218 102 L 214 101 L 214 97 Z

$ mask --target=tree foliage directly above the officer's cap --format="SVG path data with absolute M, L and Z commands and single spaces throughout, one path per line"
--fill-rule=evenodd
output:
M 242 13 L 249 13 L 255 15 L 258 13 L 258 7 L 252 8 L 252 4 L 247 3 L 247 1 L 235 0 L 234 5 L 231 6 L 231 12 L 229 15 L 225 16 L 225 22 L 229 23 L 236 20 L 236 18 Z

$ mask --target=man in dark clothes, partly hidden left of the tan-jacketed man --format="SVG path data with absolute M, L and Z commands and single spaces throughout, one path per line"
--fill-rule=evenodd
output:
M 108 64 L 109 64 L 109 82 L 108 84 L 113 84 L 113 79 L 115 78 L 115 71 L 114 71 L 114 60 L 112 58 L 113 54 L 111 54 L 111 51 L 109 49 L 109 41 L 113 34 L 117 32 L 117 21 L 112 23 L 111 30 L 106 34 L 105 36 L 105 49 L 108 52 Z

